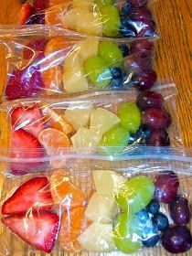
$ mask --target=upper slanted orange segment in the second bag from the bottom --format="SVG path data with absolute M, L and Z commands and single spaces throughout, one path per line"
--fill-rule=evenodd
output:
M 72 125 L 65 118 L 61 117 L 57 112 L 51 110 L 46 104 L 43 105 L 41 112 L 44 115 L 44 123 L 46 123 L 48 127 L 59 130 L 65 134 L 72 132 Z

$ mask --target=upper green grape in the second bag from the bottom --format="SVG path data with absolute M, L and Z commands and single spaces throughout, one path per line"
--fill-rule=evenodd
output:
M 124 102 L 119 108 L 121 125 L 129 133 L 135 133 L 141 125 L 141 112 L 133 102 Z

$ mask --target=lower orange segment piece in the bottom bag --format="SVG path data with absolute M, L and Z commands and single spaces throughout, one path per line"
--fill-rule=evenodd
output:
M 59 230 L 59 243 L 65 251 L 81 251 L 82 248 L 77 239 L 88 226 L 84 213 L 85 208 L 80 207 L 72 208 L 62 214 Z

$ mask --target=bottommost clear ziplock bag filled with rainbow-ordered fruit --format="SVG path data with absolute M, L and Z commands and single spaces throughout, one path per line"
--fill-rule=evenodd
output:
M 2 171 L 0 255 L 190 255 L 191 156 L 137 148 L 118 161 L 76 155 L 43 173 Z

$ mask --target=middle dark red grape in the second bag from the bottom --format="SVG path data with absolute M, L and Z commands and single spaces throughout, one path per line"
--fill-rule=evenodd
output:
M 166 129 L 171 124 L 171 116 L 163 110 L 148 109 L 142 113 L 142 123 L 152 130 Z

